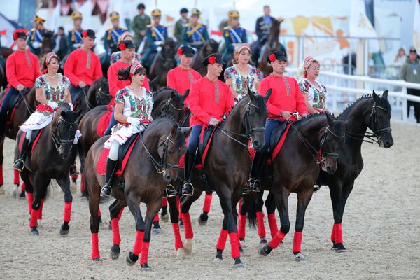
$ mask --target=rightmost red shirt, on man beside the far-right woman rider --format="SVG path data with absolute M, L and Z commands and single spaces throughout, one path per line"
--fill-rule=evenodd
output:
M 294 112 L 297 110 L 300 115 L 308 113 L 303 94 L 294 78 L 279 78 L 271 74 L 261 80 L 258 93 L 264 96 L 270 88 L 272 88 L 272 94 L 267 101 L 268 118 L 285 120 L 280 117 L 282 111 Z

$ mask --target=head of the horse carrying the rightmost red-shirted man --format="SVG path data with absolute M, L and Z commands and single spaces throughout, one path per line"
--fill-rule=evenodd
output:
M 327 117 L 327 127 L 321 130 L 319 137 L 320 154 L 321 154 L 321 169 L 329 174 L 337 170 L 338 151 L 344 144 L 345 127 L 342 121 L 325 113 Z

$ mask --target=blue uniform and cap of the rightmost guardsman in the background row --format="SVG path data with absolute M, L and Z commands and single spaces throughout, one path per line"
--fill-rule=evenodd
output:
M 239 18 L 237 10 L 229 12 L 229 18 Z M 242 27 L 232 27 L 228 25 L 223 28 L 223 37 L 225 38 L 225 52 L 223 52 L 223 60 L 228 63 L 232 57 L 235 49 L 241 43 L 247 43 L 246 30 Z

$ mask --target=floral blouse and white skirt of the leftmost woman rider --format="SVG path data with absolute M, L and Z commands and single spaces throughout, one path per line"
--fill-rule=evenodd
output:
M 47 101 L 56 102 L 58 105 L 65 102 L 66 88 L 70 86 L 70 80 L 66 76 L 59 75 L 57 86 L 52 86 L 45 75 L 39 76 L 35 81 L 35 88 L 41 88 Z M 20 130 L 40 130 L 52 122 L 54 111 L 50 106 L 39 104 L 36 111 L 29 116 L 25 123 L 20 126 Z

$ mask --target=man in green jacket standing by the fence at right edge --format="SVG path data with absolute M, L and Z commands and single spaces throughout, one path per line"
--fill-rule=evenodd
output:
M 401 68 L 401 78 L 409 83 L 420 84 L 420 63 L 417 56 L 417 51 L 414 47 L 409 49 L 409 55 L 404 65 Z M 407 88 L 407 93 L 420 97 L 420 90 L 414 88 Z M 420 123 L 420 104 L 419 102 L 407 101 L 407 114 L 409 114 L 409 107 L 414 106 L 414 116 L 417 123 Z

